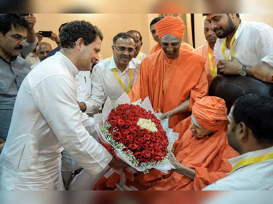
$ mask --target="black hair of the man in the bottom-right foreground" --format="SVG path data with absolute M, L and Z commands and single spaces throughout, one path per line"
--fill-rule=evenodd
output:
M 258 143 L 273 144 L 273 97 L 247 94 L 234 102 L 233 117 L 236 124 L 244 122 Z

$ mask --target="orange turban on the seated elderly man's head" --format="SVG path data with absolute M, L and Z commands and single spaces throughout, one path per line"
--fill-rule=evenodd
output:
M 226 125 L 228 110 L 223 99 L 205 96 L 195 101 L 192 114 L 202 127 L 215 131 Z

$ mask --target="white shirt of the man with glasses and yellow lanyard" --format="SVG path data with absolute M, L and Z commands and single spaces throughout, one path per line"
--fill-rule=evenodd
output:
M 132 70 L 131 85 L 133 85 L 138 76 L 140 64 L 140 60 L 132 58 L 122 73 L 117 68 L 113 56 L 96 64 L 91 75 L 92 94 L 90 98 L 84 101 L 86 104 L 85 112 L 93 113 L 104 104 L 108 96 L 117 99 L 124 93 L 124 90 L 113 73 L 113 69 L 116 70 L 119 79 L 125 86 L 126 90 L 128 90 L 129 70 Z

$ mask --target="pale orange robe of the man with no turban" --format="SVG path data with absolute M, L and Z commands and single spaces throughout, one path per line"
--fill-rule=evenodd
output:
M 193 52 L 196 53 L 196 54 L 199 54 L 199 55 L 201 55 L 201 56 L 203 56 L 203 57 L 205 57 L 207 59 L 207 61 L 205 63 L 205 70 L 206 70 L 206 73 L 207 73 L 208 84 L 210 85 L 213 79 L 211 78 L 211 69 L 210 69 L 210 62 L 209 62 L 209 56 L 208 56 L 208 48 L 209 48 L 210 53 L 211 53 L 212 67 L 213 67 L 213 69 L 215 69 L 216 61 L 215 61 L 215 57 L 214 57 L 214 54 L 213 54 L 213 49 L 210 48 L 208 43 L 196 48 L 195 50 L 193 50 Z

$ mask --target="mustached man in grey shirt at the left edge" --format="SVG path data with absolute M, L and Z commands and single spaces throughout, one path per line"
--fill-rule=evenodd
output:
M 22 81 L 30 72 L 28 62 L 18 56 L 29 28 L 16 14 L 0 14 L 0 138 L 6 140 L 15 99 Z

